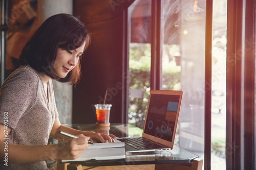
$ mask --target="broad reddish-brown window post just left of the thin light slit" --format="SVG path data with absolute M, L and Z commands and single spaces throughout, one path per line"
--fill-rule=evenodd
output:
M 243 169 L 243 1 L 227 4 L 226 169 Z

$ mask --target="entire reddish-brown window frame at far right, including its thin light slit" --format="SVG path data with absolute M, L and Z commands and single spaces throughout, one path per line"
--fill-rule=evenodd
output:
M 256 168 L 255 10 L 254 1 L 227 4 L 227 169 Z

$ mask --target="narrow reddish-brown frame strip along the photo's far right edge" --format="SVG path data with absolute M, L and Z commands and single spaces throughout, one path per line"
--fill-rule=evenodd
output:
M 243 169 L 255 169 L 255 1 L 245 2 Z

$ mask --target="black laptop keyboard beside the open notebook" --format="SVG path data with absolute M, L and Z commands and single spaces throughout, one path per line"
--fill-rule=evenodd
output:
M 161 145 L 153 143 L 149 140 L 143 139 L 142 137 L 136 138 L 121 138 L 118 139 L 125 144 L 130 145 L 131 147 L 140 150 L 140 149 L 154 149 L 154 148 L 163 148 Z

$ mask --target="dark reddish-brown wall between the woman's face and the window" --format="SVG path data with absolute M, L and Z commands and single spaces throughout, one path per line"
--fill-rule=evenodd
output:
M 119 1 L 120 2 L 120 1 Z M 73 90 L 73 124 L 96 123 L 94 104 L 112 104 L 110 122 L 121 123 L 122 106 L 122 3 L 76 0 L 74 15 L 93 34 L 81 62 L 82 78 Z

